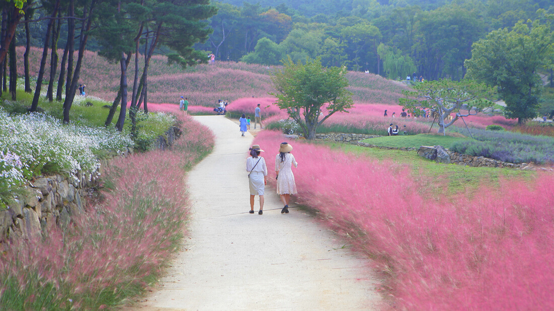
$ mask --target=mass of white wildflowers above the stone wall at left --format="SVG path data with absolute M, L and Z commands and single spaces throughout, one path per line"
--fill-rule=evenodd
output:
M 19 176 L 13 175 L 15 168 L 25 175 L 25 170 L 47 164 L 72 173 L 95 172 L 99 166 L 96 152 L 122 152 L 128 146 L 133 146 L 130 137 L 115 130 L 63 124 L 41 113 L 10 116 L 0 109 L 0 151 L 6 157 L 9 150 L 22 164 L 0 167 L 0 174 L 8 174 L 9 168 L 11 176 Z

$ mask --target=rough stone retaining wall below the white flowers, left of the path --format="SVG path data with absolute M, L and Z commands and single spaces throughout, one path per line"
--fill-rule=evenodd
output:
M 153 143 L 165 150 L 181 136 L 173 126 Z M 132 154 L 129 149 L 122 156 Z M 114 155 L 115 156 L 115 155 Z M 74 175 L 41 176 L 25 186 L 22 197 L 7 210 L 0 210 L 0 242 L 7 239 L 35 239 L 48 235 L 53 226 L 66 228 L 71 216 L 84 212 L 91 187 L 98 185 L 105 161 L 93 176 L 78 172 Z

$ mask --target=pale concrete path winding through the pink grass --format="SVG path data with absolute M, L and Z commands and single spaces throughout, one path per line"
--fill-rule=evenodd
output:
M 189 238 L 141 310 L 372 310 L 381 297 L 367 261 L 296 208 L 281 214 L 266 188 L 264 214 L 249 214 L 246 152 L 224 117 L 194 117 L 216 134 L 211 155 L 188 175 Z M 273 168 L 275 155 L 263 155 Z M 299 165 L 302 165 L 301 163 Z M 258 197 L 254 205 L 259 209 Z

